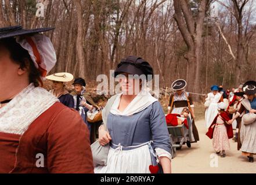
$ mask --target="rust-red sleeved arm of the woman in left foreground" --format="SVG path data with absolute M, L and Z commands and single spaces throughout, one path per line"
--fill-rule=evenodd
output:
M 52 120 L 46 149 L 50 173 L 93 173 L 89 130 L 74 109 L 65 108 Z

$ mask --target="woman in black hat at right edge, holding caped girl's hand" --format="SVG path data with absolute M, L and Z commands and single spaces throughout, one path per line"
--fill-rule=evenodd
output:
M 243 156 L 254 162 L 256 154 L 256 82 L 248 81 L 243 84 L 243 92 L 246 98 L 241 101 L 241 107 L 230 122 L 243 116 L 241 119 L 240 141 Z M 243 115 L 244 114 L 244 115 Z

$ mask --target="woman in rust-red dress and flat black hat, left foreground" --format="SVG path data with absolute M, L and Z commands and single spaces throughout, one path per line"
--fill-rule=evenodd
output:
M 0 28 L 0 173 L 92 173 L 88 129 L 42 86 L 53 28 Z M 12 84 L 12 86 L 10 86 Z

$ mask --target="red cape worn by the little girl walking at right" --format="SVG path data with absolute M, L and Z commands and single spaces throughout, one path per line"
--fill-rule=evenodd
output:
M 208 132 L 206 133 L 206 135 L 212 139 L 212 136 L 213 136 L 213 133 L 214 133 L 214 128 L 215 128 L 215 124 L 216 124 L 216 121 L 217 121 L 217 117 L 219 116 L 219 114 L 215 117 L 214 121 L 212 121 L 212 124 L 211 126 L 208 128 Z M 229 121 L 230 118 L 229 118 L 229 113 L 227 112 L 223 112 L 221 113 L 221 117 L 224 121 Z M 212 126 L 214 125 L 214 127 L 212 128 Z M 225 126 L 226 126 L 226 132 L 228 134 L 228 138 L 231 139 L 233 138 L 233 128 L 232 128 L 232 124 L 226 124 L 225 123 Z

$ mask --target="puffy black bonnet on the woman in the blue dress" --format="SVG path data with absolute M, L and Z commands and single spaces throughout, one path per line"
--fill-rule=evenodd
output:
M 136 56 L 129 56 L 121 60 L 120 64 L 117 65 L 117 69 L 114 72 L 114 77 L 120 73 L 129 73 L 131 75 L 154 75 L 153 68 L 150 66 L 149 62 L 143 60 L 143 58 Z M 147 80 L 152 80 L 152 78 Z

